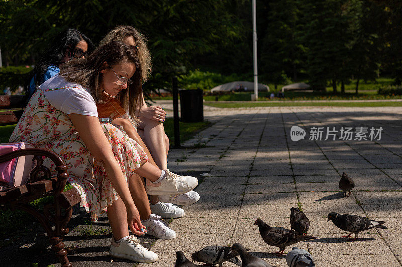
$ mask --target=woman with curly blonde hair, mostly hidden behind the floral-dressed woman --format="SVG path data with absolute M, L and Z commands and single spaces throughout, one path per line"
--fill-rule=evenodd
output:
M 117 26 L 100 41 L 100 45 L 111 41 L 122 41 L 133 49 L 140 61 L 142 80 L 146 82 L 152 68 L 147 40 L 144 35 L 132 26 Z M 167 153 L 169 151 L 169 139 L 163 127 L 166 112 L 161 106 L 148 107 L 143 96 L 140 99 L 139 105 L 136 107 L 138 123 L 135 123 L 133 118 L 130 118 L 137 129 L 133 129 L 131 124 L 127 123 L 127 121 L 124 122 L 122 119 L 120 119 L 120 124 L 123 125 L 124 130 L 131 138 L 142 146 L 144 144 L 149 149 L 150 154 L 147 154 L 148 157 L 153 158 L 160 169 L 166 170 Z M 117 120 L 119 119 L 115 119 L 114 122 L 118 123 Z M 144 147 L 145 150 L 147 150 L 146 148 Z M 151 196 L 151 211 L 164 218 L 181 217 L 184 214 L 184 210 L 173 204 L 189 205 L 198 200 L 199 195 L 195 191 L 181 195 Z

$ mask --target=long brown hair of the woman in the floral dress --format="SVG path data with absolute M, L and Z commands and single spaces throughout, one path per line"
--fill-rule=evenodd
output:
M 137 55 L 123 42 L 109 42 L 106 45 L 99 46 L 85 59 L 76 59 L 63 64 L 60 67 L 60 76 L 63 76 L 67 81 L 89 88 L 94 100 L 102 103 L 105 97 L 100 89 L 102 84 L 102 73 L 100 71 L 104 67 L 104 62 L 112 66 L 122 61 L 133 63 L 136 71 L 131 77 L 133 83 L 127 87 L 127 90 L 120 91 L 116 98 L 119 99 L 122 107 L 128 111 L 130 117 L 137 121 L 135 107 L 137 107 L 138 101 L 142 101 L 141 67 Z

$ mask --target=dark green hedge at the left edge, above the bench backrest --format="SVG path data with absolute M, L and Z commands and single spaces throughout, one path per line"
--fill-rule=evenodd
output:
M 31 67 L 26 66 L 8 66 L 0 68 L 0 94 L 6 87 L 10 87 L 11 92 L 18 89 L 18 86 L 24 86 L 28 78 Z

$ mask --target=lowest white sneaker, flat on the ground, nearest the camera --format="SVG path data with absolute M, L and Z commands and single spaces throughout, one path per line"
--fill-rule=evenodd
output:
M 116 243 L 112 236 L 109 256 L 141 263 L 152 263 L 159 259 L 157 254 L 140 245 L 140 241 L 134 235 L 119 243 Z

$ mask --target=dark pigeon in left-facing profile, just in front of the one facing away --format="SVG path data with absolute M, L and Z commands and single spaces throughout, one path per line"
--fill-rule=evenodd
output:
M 265 243 L 271 246 L 277 246 L 280 248 L 276 254 L 283 255 L 286 246 L 298 243 L 300 241 L 306 241 L 315 239 L 316 237 L 310 235 L 299 235 L 296 232 L 288 232 L 287 230 L 275 229 L 269 227 L 262 220 L 256 220 L 254 224 L 257 224 L 262 239 Z

